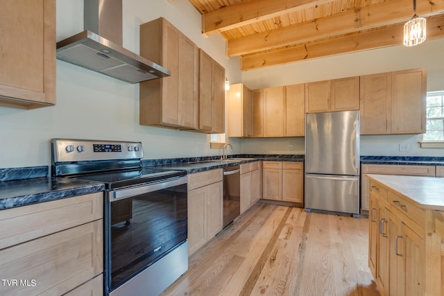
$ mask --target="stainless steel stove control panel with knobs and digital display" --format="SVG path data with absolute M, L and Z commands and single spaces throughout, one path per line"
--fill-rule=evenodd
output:
M 51 139 L 53 163 L 142 159 L 141 142 Z

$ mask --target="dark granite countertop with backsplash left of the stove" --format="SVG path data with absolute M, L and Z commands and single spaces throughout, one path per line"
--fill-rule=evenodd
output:
M 48 177 L 48 167 L 0 169 L 0 210 L 103 191 L 105 185 Z

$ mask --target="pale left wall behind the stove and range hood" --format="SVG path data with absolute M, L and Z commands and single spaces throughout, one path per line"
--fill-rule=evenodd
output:
M 204 37 L 189 1 L 124 0 L 123 47 L 139 53 L 139 25 L 165 17 L 240 79 L 239 59 L 225 56 L 225 40 Z M 83 31 L 83 0 L 57 0 L 57 41 Z M 56 46 L 56 44 L 54 44 Z M 48 166 L 51 138 L 142 141 L 145 158 L 220 155 L 210 136 L 139 125 L 139 85 L 57 60 L 57 105 L 37 110 L 0 107 L 0 168 Z M 240 143 L 233 144 L 240 153 Z

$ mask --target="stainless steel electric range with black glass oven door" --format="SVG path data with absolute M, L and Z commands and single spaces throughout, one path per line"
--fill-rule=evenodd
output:
M 186 171 L 143 168 L 142 143 L 52 139 L 52 175 L 105 184 L 106 295 L 159 295 L 188 269 Z

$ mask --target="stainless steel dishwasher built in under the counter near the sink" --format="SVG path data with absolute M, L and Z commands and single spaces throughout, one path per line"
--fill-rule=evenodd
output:
M 223 228 L 241 214 L 241 169 L 223 169 Z

